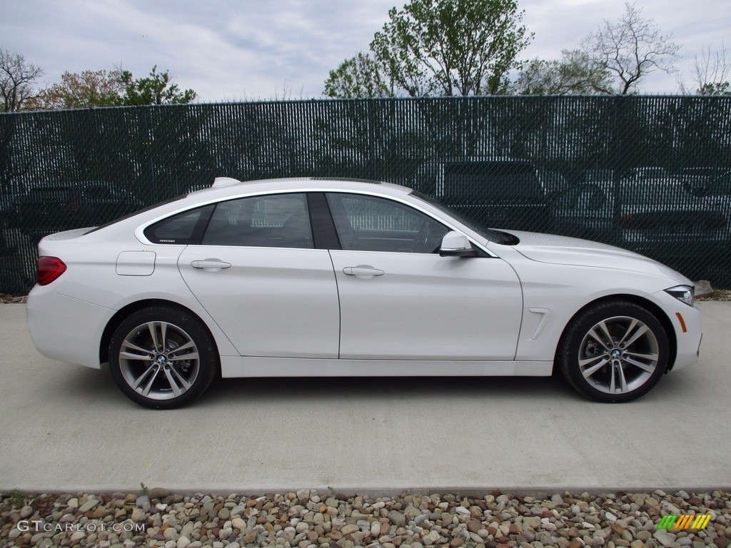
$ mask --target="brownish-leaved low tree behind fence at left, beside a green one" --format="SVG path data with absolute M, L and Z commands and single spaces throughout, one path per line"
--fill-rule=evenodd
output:
M 64 72 L 61 83 L 39 93 L 34 108 L 112 107 L 118 104 L 124 85 L 118 70 L 85 70 L 80 74 Z

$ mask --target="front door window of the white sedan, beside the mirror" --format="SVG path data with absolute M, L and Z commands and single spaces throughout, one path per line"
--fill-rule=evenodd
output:
M 349 251 L 434 253 L 449 229 L 390 199 L 328 194 L 341 247 Z

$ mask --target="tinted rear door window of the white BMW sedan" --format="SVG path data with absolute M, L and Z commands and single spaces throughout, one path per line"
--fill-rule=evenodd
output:
M 270 194 L 219 202 L 206 246 L 313 248 L 305 194 Z

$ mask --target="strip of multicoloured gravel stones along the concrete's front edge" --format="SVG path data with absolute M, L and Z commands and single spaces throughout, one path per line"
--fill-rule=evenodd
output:
M 152 496 L 162 495 L 162 496 Z M 4 547 L 583 548 L 731 544 L 731 492 L 501 492 L 337 495 L 299 490 L 216 496 L 115 492 L 2 495 Z M 701 529 L 658 529 L 666 514 L 711 514 Z

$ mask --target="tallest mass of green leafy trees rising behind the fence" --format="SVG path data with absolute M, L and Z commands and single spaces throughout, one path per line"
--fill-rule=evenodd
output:
M 360 53 L 330 72 L 325 94 L 467 96 L 507 90 L 532 39 L 516 0 L 411 0 Z

